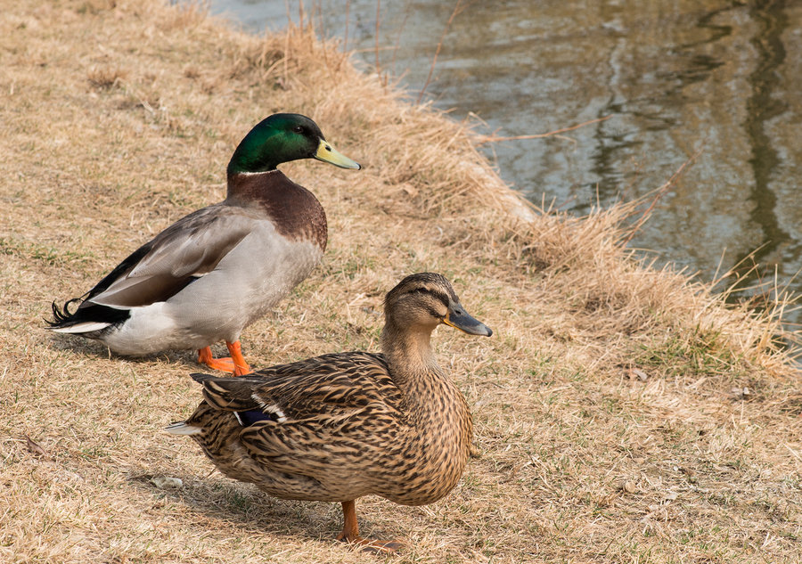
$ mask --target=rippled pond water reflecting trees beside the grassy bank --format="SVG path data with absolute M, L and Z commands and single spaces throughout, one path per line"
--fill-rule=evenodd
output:
M 403 73 L 413 100 L 426 85 L 439 108 L 457 119 L 478 115 L 487 133 L 538 134 L 610 116 L 561 136 L 485 145 L 501 176 L 536 202 L 584 214 L 597 201 L 650 192 L 697 155 L 631 244 L 702 281 L 753 253 L 760 268 L 746 285 L 776 272 L 781 287 L 802 291 L 794 278 L 802 268 L 802 2 L 463 2 L 427 85 L 455 4 L 318 0 L 306 8 L 323 35 L 358 50 L 365 69 L 375 69 L 378 53 L 381 72 Z M 295 1 L 211 6 L 259 33 L 299 13 Z M 802 322 L 802 312 L 789 321 Z

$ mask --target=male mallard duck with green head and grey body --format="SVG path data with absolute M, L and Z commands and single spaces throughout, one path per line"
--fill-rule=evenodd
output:
M 98 339 L 121 355 L 197 348 L 198 362 L 250 372 L 241 331 L 320 262 L 326 215 L 312 192 L 276 165 L 320 159 L 360 168 L 326 142 L 314 121 L 274 114 L 242 139 L 228 163 L 228 193 L 136 249 L 82 298 L 53 302 L 50 328 Z M 70 313 L 70 305 L 80 302 Z M 209 345 L 225 340 L 231 358 Z

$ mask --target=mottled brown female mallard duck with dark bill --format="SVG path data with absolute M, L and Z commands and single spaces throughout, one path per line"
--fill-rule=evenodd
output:
M 218 470 L 270 495 L 342 503 L 340 540 L 394 551 L 397 543 L 360 538 L 354 500 L 422 505 L 456 485 L 471 451 L 471 413 L 435 361 L 431 332 L 439 323 L 493 331 L 440 274 L 407 276 L 389 291 L 384 315 L 382 354 L 317 356 L 242 378 L 193 374 L 205 401 L 168 431 L 192 436 Z

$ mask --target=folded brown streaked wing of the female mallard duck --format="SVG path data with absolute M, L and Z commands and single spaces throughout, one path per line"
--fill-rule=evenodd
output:
M 381 354 L 336 353 L 238 378 L 192 378 L 203 384 L 206 400 L 196 414 L 211 408 L 274 415 L 227 437 L 258 464 L 292 475 L 322 479 L 343 464 L 383 452 L 397 443 L 392 421 L 405 417 L 401 392 Z M 195 424 L 193 418 L 187 423 Z M 219 411 L 213 419 L 231 421 Z

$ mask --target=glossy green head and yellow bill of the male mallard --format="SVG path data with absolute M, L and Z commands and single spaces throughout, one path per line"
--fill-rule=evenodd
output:
M 361 168 L 336 151 L 317 124 L 297 113 L 276 113 L 242 139 L 228 163 L 228 175 L 274 170 L 282 162 L 318 159 L 340 168 Z

